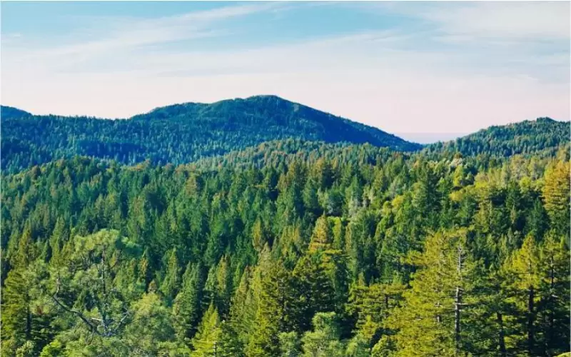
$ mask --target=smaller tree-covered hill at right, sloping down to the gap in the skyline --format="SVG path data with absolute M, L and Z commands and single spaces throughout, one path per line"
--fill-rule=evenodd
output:
M 490 126 L 462 138 L 425 146 L 429 154 L 455 153 L 464 156 L 487 154 L 490 156 L 552 155 L 570 141 L 569 121 L 550 118 L 521 121 L 505 126 Z

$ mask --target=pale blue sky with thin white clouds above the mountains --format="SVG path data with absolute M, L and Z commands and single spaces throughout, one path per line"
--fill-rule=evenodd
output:
M 274 94 L 417 141 L 570 119 L 570 2 L 6 2 L 1 103 L 127 118 Z M 426 139 L 426 138 L 432 139 Z

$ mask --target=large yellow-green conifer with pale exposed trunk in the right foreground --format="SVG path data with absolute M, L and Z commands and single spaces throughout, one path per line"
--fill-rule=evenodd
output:
M 390 316 L 397 328 L 398 356 L 462 356 L 470 319 L 467 303 L 474 303 L 474 263 L 468 255 L 465 232 L 435 233 L 424 252 L 413 256 L 419 270 L 404 293 L 403 307 Z

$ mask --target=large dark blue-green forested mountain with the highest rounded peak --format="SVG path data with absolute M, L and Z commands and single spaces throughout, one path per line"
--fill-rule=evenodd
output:
M 145 159 L 156 164 L 183 164 L 288 138 L 369 143 L 398 151 L 422 148 L 371 126 L 277 96 L 175 104 L 126 120 L 34 116 L 4 106 L 1 114 L 1 167 L 10 172 L 74 155 L 123 164 Z

